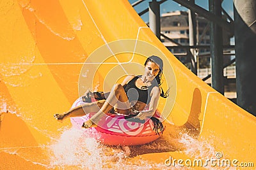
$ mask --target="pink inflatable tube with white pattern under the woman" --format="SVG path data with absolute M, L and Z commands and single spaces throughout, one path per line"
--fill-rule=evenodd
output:
M 83 104 L 83 101 L 79 97 L 72 105 L 72 108 L 81 104 Z M 83 117 L 72 117 L 70 121 L 73 127 L 83 129 L 83 122 L 92 117 L 93 114 L 95 113 L 88 113 Z M 103 120 L 100 120 L 98 127 L 83 129 L 83 131 L 105 145 L 143 145 L 155 141 L 160 137 L 159 134 L 162 133 L 162 131 L 159 131 L 159 134 L 157 134 L 153 130 L 154 123 L 150 118 L 145 120 L 145 124 L 141 124 L 129 122 L 124 117 L 124 115 L 107 115 Z M 156 111 L 154 117 L 161 121 L 159 111 Z

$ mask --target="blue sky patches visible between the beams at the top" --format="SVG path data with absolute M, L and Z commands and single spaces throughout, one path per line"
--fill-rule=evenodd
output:
M 136 2 L 138 0 L 129 0 L 129 2 L 132 4 L 134 2 Z M 143 11 L 145 10 L 145 8 L 148 7 L 148 2 L 150 2 L 151 0 L 146 0 L 143 1 L 143 3 L 138 4 L 137 6 L 135 6 L 135 10 L 137 12 Z M 158 0 L 159 1 L 159 0 Z M 195 3 L 198 6 L 201 6 L 202 8 L 205 8 L 206 10 L 208 10 L 208 2 L 209 0 L 195 0 Z M 230 17 L 234 18 L 234 14 L 233 14 L 233 0 L 224 0 L 222 3 L 222 8 L 227 11 L 227 13 L 230 15 Z M 166 13 L 168 11 L 177 11 L 177 10 L 183 10 L 183 11 L 188 11 L 188 8 L 185 8 L 184 6 L 180 6 L 180 4 L 175 3 L 175 1 L 172 0 L 168 0 L 165 1 L 163 4 L 161 4 L 160 6 L 160 12 L 162 13 Z M 148 13 L 145 13 L 144 15 L 141 16 L 141 18 L 145 21 L 148 22 Z

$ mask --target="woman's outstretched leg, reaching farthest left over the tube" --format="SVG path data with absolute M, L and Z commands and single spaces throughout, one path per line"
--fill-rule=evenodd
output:
M 63 122 L 66 118 L 70 117 L 83 117 L 87 113 L 98 112 L 103 106 L 106 100 L 95 101 L 93 103 L 83 103 L 76 108 L 72 108 L 67 112 L 61 114 L 55 114 L 54 117 L 59 121 Z

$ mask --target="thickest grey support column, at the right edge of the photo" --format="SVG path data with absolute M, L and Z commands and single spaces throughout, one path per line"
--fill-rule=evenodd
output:
M 255 0 L 234 0 L 237 104 L 256 116 L 255 9 Z

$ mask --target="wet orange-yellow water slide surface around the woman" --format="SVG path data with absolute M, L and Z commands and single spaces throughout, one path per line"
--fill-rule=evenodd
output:
M 256 118 L 175 59 L 128 1 L 3 0 L 0 16 L 0 169 L 256 164 Z M 109 91 L 126 74 L 140 74 L 150 55 L 164 60 L 163 88 L 170 87 L 158 107 L 166 118 L 161 138 L 104 146 L 53 118 L 86 89 Z

